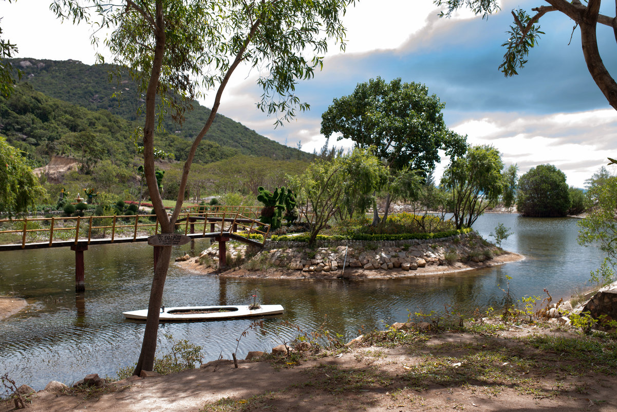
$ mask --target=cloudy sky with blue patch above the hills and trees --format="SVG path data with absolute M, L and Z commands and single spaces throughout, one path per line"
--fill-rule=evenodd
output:
M 607 164 L 607 157 L 617 157 L 617 112 L 587 71 L 574 22 L 559 12 L 544 15 L 540 23 L 545 35 L 520 75 L 506 78 L 498 69 L 504 52 L 500 45 L 507 40 L 512 20 L 510 10 L 529 11 L 541 5 L 540 0 L 505 0 L 502 11 L 488 19 L 470 12 L 440 19 L 430 0 L 360 0 L 343 19 L 345 53 L 331 44 L 323 70 L 296 88 L 310 111 L 275 128 L 275 119 L 255 107 L 261 94 L 256 74 L 240 70 L 226 89 L 219 112 L 279 143 L 300 144 L 312 152 L 325 143 L 319 133 L 321 113 L 334 98 L 350 95 L 358 83 L 370 78 L 389 82 L 400 77 L 424 83 L 445 103 L 448 127 L 467 135 L 471 145 L 499 149 L 506 165 L 518 165 L 519 175 L 549 163 L 563 170 L 569 185 L 582 188 Z M 60 22 L 48 7 L 49 0 L 1 1 L 2 38 L 17 43 L 18 57 L 93 64 L 91 28 Z M 598 43 L 607 69 L 617 75 L 610 28 L 598 27 Z M 210 106 L 211 99 L 206 96 L 202 103 Z M 329 143 L 352 146 L 334 137 Z M 447 162 L 442 159 L 437 175 Z

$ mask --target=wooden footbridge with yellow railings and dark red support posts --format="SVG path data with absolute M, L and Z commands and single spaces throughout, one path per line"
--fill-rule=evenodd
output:
M 218 242 L 219 267 L 225 269 L 226 242 L 233 239 L 261 248 L 267 238 L 270 226 L 259 222 L 251 209 L 181 213 L 176 221 L 175 233 L 191 240 L 213 238 Z M 88 250 L 89 245 L 147 242 L 151 235 L 157 234 L 159 221 L 152 214 L 0 219 L 0 239 L 4 243 L 0 244 L 0 251 L 70 247 L 75 251 L 75 290 L 83 292 L 83 252 Z M 154 246 L 154 267 L 160 247 Z

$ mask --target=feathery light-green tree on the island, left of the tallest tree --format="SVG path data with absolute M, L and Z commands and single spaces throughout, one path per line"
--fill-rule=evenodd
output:
M 378 158 L 365 149 L 354 149 L 330 161 L 316 159 L 299 177 L 292 177 L 291 186 L 296 193 L 300 216 L 309 222 L 309 244 L 341 208 L 350 201 L 346 195 L 353 193 L 362 198 L 383 184 L 387 170 Z

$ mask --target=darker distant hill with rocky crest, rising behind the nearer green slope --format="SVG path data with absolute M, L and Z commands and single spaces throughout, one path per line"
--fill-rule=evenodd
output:
M 111 65 L 87 65 L 79 61 L 52 61 L 39 59 L 12 59 L 14 67 L 23 71 L 21 83 L 28 83 L 36 91 L 56 99 L 85 107 L 90 111 L 104 109 L 130 122 L 139 120 L 137 109 L 140 102 L 135 84 L 130 78 L 110 82 Z M 120 98 L 112 97 L 116 93 Z M 192 140 L 205 124 L 210 109 L 194 102 L 194 110 L 178 127 L 168 119 L 165 129 L 176 136 Z M 267 156 L 273 159 L 305 159 L 312 155 L 296 148 L 281 145 L 259 135 L 246 126 L 217 114 L 210 131 L 205 137 L 222 146 L 236 149 L 238 153 Z

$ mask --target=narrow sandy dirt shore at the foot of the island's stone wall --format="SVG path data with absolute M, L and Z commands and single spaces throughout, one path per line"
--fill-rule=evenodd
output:
M 312 272 L 292 271 L 282 267 L 270 267 L 260 271 L 247 271 L 247 269 L 234 267 L 225 271 L 218 271 L 214 267 L 205 267 L 197 263 L 197 258 L 188 261 L 176 262 L 176 264 L 186 271 L 199 274 L 214 274 L 225 277 L 254 277 L 254 278 L 281 278 L 281 279 L 395 279 L 403 277 L 428 276 L 453 272 L 469 271 L 481 267 L 497 266 L 504 263 L 518 262 L 524 259 L 522 254 L 506 252 L 499 256 L 494 256 L 491 260 L 484 262 L 457 262 L 452 265 L 427 265 L 418 267 L 415 271 L 404 271 L 402 269 L 375 269 L 366 271 L 362 268 L 346 267 L 345 271 L 336 272 Z

